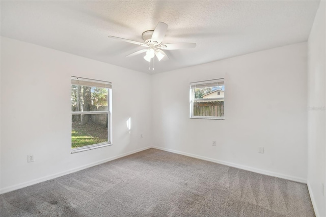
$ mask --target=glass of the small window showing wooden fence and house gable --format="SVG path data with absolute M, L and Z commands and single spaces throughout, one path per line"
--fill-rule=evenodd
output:
M 224 85 L 194 88 L 193 116 L 224 117 Z

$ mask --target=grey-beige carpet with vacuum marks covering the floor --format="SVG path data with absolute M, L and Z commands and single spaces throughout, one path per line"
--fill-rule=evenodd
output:
M 314 216 L 306 184 L 157 149 L 0 199 L 1 216 Z

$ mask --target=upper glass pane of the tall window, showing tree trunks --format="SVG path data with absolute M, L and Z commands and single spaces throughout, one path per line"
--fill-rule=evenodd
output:
M 107 88 L 71 85 L 72 112 L 108 111 Z

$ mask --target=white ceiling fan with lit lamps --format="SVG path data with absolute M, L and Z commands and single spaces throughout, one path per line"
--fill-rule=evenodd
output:
M 144 43 L 132 41 L 129 39 L 119 38 L 115 36 L 108 36 L 108 38 L 117 39 L 120 41 L 125 41 L 132 44 L 138 44 L 142 47 L 146 47 L 145 49 L 130 53 L 126 57 L 132 57 L 135 55 L 139 55 L 140 53 L 146 52 L 144 59 L 148 62 L 151 61 L 155 56 L 158 61 L 160 60 L 169 60 L 169 57 L 163 50 L 178 50 L 178 49 L 186 49 L 186 48 L 194 48 L 196 47 L 196 43 L 169 43 L 162 44 L 162 40 L 167 32 L 168 24 L 164 22 L 158 22 L 155 30 L 148 30 L 143 33 Z

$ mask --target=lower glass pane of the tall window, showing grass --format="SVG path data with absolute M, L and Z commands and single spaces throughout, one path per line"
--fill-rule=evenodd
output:
M 108 142 L 107 114 L 72 115 L 71 147 Z

